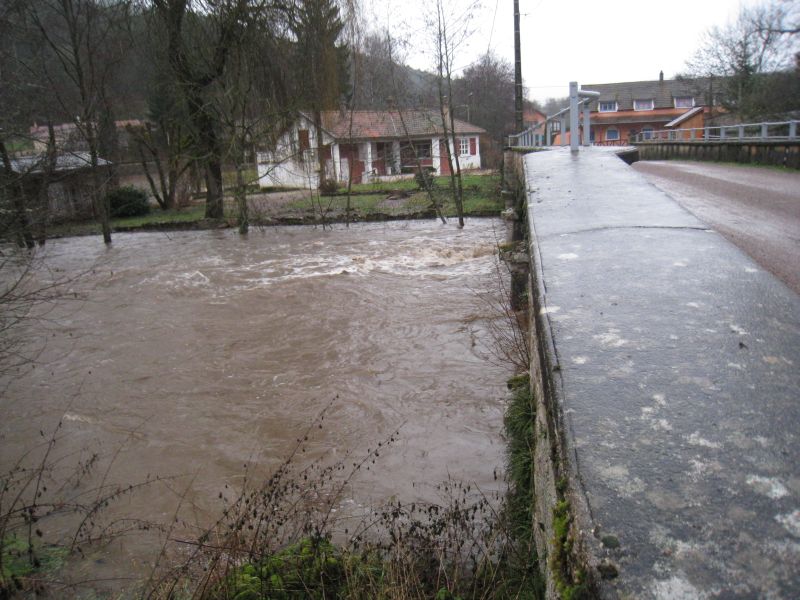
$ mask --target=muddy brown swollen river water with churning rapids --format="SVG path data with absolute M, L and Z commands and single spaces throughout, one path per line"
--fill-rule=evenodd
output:
M 97 451 L 108 482 L 178 476 L 124 513 L 168 520 L 182 496 L 202 524 L 244 465 L 268 474 L 330 405 L 309 455 L 363 455 L 400 431 L 343 508 L 435 501 L 448 478 L 500 490 L 509 369 L 479 296 L 496 290 L 502 236 L 476 219 L 48 242 L 37 277 L 75 277 L 78 298 L 26 331 L 41 354 L 5 382 L 2 466 L 61 420 L 63 469 Z M 120 542 L 100 562 L 148 551 Z

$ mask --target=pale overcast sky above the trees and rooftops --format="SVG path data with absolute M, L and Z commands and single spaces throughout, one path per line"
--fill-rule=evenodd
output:
M 469 0 L 446 0 L 463 13 Z M 425 16 L 432 0 L 362 0 L 368 20 L 409 43 L 411 66 L 433 70 Z M 702 33 L 735 19 L 758 0 L 520 0 L 522 78 L 527 96 L 545 100 L 581 85 L 671 78 L 698 47 Z M 474 33 L 459 52 L 464 68 L 487 49 L 513 64 L 513 0 L 482 0 L 470 22 Z M 569 47 L 567 40 L 573 40 Z

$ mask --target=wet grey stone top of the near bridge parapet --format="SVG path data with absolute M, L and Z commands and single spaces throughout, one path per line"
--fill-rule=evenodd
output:
M 604 595 L 800 596 L 800 297 L 613 153 L 526 176 Z

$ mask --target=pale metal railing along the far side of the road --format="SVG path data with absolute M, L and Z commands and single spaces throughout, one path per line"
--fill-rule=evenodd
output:
M 647 142 L 723 142 L 723 141 L 794 141 L 798 140 L 800 121 L 741 123 L 691 129 L 663 129 L 646 131 L 631 137 L 631 143 Z

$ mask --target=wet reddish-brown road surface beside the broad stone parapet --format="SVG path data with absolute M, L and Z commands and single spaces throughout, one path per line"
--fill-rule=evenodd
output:
M 633 168 L 800 294 L 800 172 L 690 161 Z

